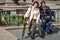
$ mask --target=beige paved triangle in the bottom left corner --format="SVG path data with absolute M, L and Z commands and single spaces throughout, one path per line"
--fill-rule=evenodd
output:
M 0 40 L 17 40 L 18 38 L 0 27 Z

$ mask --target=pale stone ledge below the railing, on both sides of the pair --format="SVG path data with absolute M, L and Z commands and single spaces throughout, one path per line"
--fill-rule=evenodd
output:
M 54 27 L 60 26 L 60 22 L 53 22 L 52 25 Z M 28 28 L 29 25 L 26 25 L 26 28 Z M 2 28 L 6 29 L 6 30 L 13 30 L 13 29 L 23 29 L 24 26 L 3 26 Z

